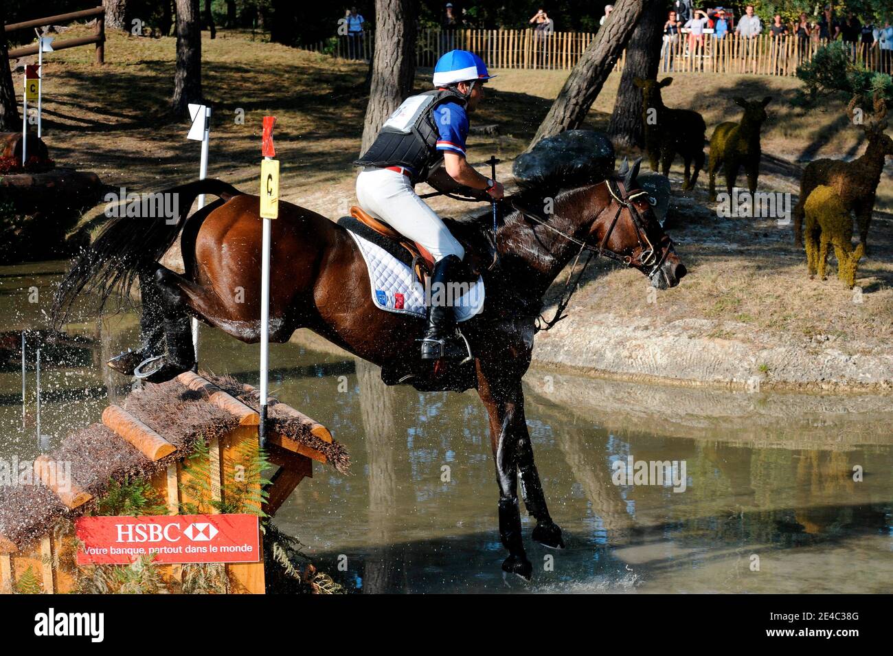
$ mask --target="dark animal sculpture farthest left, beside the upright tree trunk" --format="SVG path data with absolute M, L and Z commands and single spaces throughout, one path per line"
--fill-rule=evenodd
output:
M 645 123 L 645 150 L 651 170 L 658 161 L 664 176 L 670 175 L 670 165 L 676 154 L 685 162 L 683 189 L 695 187 L 697 174 L 704 168 L 704 137 L 707 131 L 704 117 L 693 110 L 671 109 L 663 104 L 661 89 L 669 87 L 672 78 L 635 78 L 632 83 L 642 89 L 642 120 Z M 689 173 L 694 162 L 695 171 Z

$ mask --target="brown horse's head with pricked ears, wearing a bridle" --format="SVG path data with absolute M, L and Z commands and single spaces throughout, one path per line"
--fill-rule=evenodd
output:
M 641 159 L 632 166 L 624 160 L 617 177 L 603 183 L 604 193 L 597 186 L 587 241 L 605 257 L 640 270 L 652 286 L 667 289 L 679 285 L 686 268 L 655 217 L 652 200 L 638 187 L 640 164 Z

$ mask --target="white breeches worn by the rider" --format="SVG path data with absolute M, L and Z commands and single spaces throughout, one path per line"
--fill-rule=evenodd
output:
M 363 170 L 356 178 L 356 199 L 374 218 L 424 246 L 435 262 L 447 255 L 460 260 L 465 249 L 440 217 L 415 193 L 409 178 L 396 170 Z

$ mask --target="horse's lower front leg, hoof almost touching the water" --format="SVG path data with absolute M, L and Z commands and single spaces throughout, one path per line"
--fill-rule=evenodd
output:
M 478 394 L 487 408 L 490 421 L 490 445 L 497 468 L 499 486 L 499 536 L 508 549 L 502 569 L 530 580 L 533 566 L 527 560 L 521 536 L 521 511 L 518 508 L 518 466 L 524 425 L 521 377 L 507 381 L 488 374 L 478 361 Z M 526 427 L 524 428 L 526 432 Z

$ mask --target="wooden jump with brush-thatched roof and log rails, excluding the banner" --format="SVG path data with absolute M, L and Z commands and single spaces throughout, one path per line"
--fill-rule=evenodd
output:
M 130 394 L 121 406 L 110 405 L 101 423 L 72 433 L 53 453 L 39 456 L 33 463 L 33 485 L 0 486 L 0 594 L 15 591 L 26 578 L 36 579 L 43 593 L 77 592 L 78 577 L 84 576 L 79 569 L 109 567 L 73 565 L 79 546 L 72 544 L 71 522 L 95 507 L 110 474 L 115 480 L 135 472 L 145 477 L 168 515 L 188 515 L 184 509 L 189 507 L 218 514 L 215 508 L 232 503 L 228 495 L 237 494 L 228 481 L 258 454 L 260 416 L 247 404 L 256 404 L 255 399 L 251 386 L 188 371 Z M 313 476 L 314 460 L 331 464 L 330 447 L 341 448 L 327 428 L 285 403 L 271 405 L 270 420 L 266 461 L 278 469 L 265 488 L 266 500 L 262 505 L 259 472 L 246 477 L 248 489 L 241 491 L 249 493 L 243 512 L 267 516 L 275 514 L 303 478 Z M 206 445 L 198 466 L 192 439 Z M 63 470 L 64 461 L 72 463 L 71 481 L 60 486 L 53 472 Z M 67 525 L 71 527 L 59 529 Z M 186 566 L 156 567 L 176 589 Z M 223 568 L 230 593 L 265 592 L 263 555 L 257 562 Z

